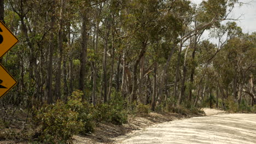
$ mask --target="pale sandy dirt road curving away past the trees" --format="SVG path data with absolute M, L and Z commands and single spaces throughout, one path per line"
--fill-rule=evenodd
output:
M 208 116 L 156 124 L 119 136 L 115 143 L 256 143 L 256 114 L 205 112 Z

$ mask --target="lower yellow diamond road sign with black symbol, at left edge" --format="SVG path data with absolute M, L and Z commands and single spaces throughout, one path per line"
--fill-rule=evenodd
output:
M 0 64 L 0 98 L 16 85 L 17 81 Z

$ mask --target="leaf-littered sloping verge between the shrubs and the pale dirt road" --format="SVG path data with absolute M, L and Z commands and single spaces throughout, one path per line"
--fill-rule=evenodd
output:
M 217 110 L 216 110 L 217 111 Z M 217 111 L 219 112 L 219 111 Z M 150 112 L 148 115 L 130 116 L 127 124 L 114 125 L 100 123 L 95 128 L 95 132 L 87 136 L 74 136 L 75 144 L 82 143 L 114 143 L 119 136 L 136 133 L 136 131 L 146 129 L 155 124 L 170 122 L 178 119 L 187 119 L 203 115 L 181 115 L 178 113 L 155 113 Z

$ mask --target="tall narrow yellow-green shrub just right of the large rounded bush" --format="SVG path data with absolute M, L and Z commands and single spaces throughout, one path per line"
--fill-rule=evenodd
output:
M 83 123 L 83 128 L 80 134 L 88 134 L 94 131 L 94 122 L 92 121 L 92 105 L 82 101 L 83 92 L 74 91 L 71 97 L 68 98 L 68 109 L 78 113 L 78 121 Z

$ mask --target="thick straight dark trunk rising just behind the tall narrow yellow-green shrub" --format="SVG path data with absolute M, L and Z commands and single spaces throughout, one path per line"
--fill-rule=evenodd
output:
M 86 10 L 84 11 L 84 14 L 82 16 L 82 49 L 80 54 L 80 79 L 79 79 L 79 89 L 80 91 L 83 91 L 84 97 L 83 100 L 85 100 L 85 65 L 86 65 L 86 58 L 87 58 L 87 41 L 88 41 L 88 35 L 87 35 L 87 25 L 88 25 L 88 17 Z

